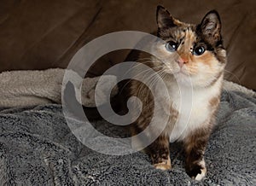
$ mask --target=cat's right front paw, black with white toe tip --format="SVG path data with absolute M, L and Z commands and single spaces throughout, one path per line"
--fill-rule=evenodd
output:
M 197 181 L 201 181 L 201 179 L 207 175 L 207 167 L 205 160 L 201 160 L 200 162 L 197 163 L 188 163 L 186 166 L 186 171 L 189 177 Z

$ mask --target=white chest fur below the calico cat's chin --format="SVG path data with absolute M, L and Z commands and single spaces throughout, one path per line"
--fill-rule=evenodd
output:
M 209 124 L 212 117 L 212 108 L 210 100 L 219 95 L 222 79 L 210 87 L 195 89 L 192 86 L 183 86 L 172 81 L 168 83 L 169 96 L 172 102 L 172 108 L 178 112 L 175 123 L 172 121 L 168 125 L 171 131 L 170 142 L 183 140 L 198 128 Z M 163 105 L 165 108 L 165 106 Z M 172 112 L 171 112 L 172 114 Z M 172 117 L 171 117 L 172 118 Z

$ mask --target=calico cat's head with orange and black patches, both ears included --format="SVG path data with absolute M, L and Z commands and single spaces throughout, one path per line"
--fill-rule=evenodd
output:
M 175 74 L 185 84 L 191 80 L 195 87 L 209 86 L 223 75 L 226 52 L 217 11 L 208 12 L 194 25 L 173 18 L 158 6 L 157 24 L 161 41 L 154 46 L 160 56 L 155 60 L 165 64 L 166 73 Z

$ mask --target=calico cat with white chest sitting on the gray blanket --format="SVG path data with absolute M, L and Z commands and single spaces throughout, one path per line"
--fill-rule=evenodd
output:
M 151 49 L 160 57 L 140 55 L 137 62 L 160 74 L 166 84 L 171 107 L 168 108 L 169 104 L 166 104 L 166 96 L 158 100 L 161 109 L 167 110 L 169 114 L 168 123 L 160 136 L 145 150 L 150 154 L 155 168 L 168 170 L 172 167 L 170 140 L 183 142 L 186 172 L 190 177 L 201 180 L 207 173 L 204 152 L 220 100 L 226 63 L 226 52 L 220 33 L 221 22 L 218 12 L 212 10 L 200 24 L 187 24 L 173 18 L 165 8 L 158 6 L 157 24 L 160 41 L 153 44 Z M 143 81 L 143 76 L 140 78 Z M 186 90 L 189 84 L 193 95 Z M 182 94 L 180 90 L 183 90 Z M 131 126 L 132 135 L 136 135 L 145 130 L 152 119 L 154 93 L 150 93 L 145 84 L 135 80 L 131 81 L 129 91 L 130 96 L 136 96 L 143 103 L 141 115 Z M 160 92 L 161 89 L 155 86 L 153 91 Z M 191 109 L 181 109 L 180 102 L 186 101 L 189 96 L 192 96 Z M 186 119 L 187 124 L 183 124 L 182 121 Z M 154 136 L 159 125 L 160 118 L 154 119 L 153 127 L 145 138 Z

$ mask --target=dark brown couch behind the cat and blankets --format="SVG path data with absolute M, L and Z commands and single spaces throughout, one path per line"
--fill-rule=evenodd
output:
M 0 71 L 67 67 L 75 52 L 93 38 L 116 31 L 154 32 L 155 9 L 162 4 L 181 20 L 197 23 L 210 9 L 223 22 L 229 63 L 226 78 L 256 90 L 256 2 L 215 1 L 16 1 L 0 6 Z M 95 76 L 124 61 L 128 50 L 103 56 Z

